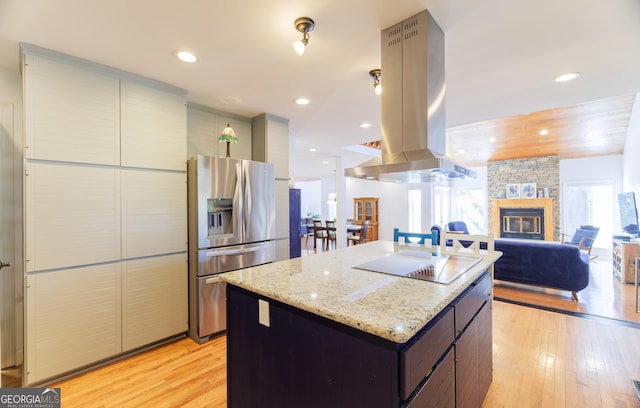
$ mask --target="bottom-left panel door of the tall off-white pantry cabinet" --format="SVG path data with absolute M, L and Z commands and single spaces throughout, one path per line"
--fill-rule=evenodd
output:
M 120 263 L 26 276 L 27 384 L 119 354 Z

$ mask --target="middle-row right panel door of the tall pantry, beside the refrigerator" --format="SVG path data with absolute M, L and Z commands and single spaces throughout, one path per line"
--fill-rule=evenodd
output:
M 187 250 L 187 175 L 122 171 L 122 257 Z

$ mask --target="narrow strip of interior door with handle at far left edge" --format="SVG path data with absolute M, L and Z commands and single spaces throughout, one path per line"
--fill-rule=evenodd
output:
M 18 157 L 13 143 L 13 110 L 0 104 L 0 290 L 2 324 L 0 325 L 0 365 L 16 364 L 15 348 L 15 205 L 14 160 Z

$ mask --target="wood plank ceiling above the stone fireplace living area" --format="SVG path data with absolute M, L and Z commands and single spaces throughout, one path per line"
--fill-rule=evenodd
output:
M 447 129 L 447 156 L 466 166 L 558 155 L 622 154 L 635 94 Z M 548 134 L 541 135 L 540 131 Z

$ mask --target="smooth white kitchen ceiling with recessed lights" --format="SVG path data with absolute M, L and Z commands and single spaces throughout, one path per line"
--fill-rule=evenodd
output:
M 637 0 L 0 0 L 0 66 L 17 70 L 27 42 L 215 109 L 288 118 L 291 176 L 326 177 L 334 157 L 367 159 L 343 147 L 379 139 L 368 72 L 380 67 L 380 31 L 423 9 L 445 33 L 447 127 L 640 91 Z M 302 57 L 291 48 L 300 16 L 316 22 Z M 200 61 L 176 60 L 178 48 Z M 567 71 L 581 77 L 553 82 Z M 311 104 L 295 105 L 300 96 Z

